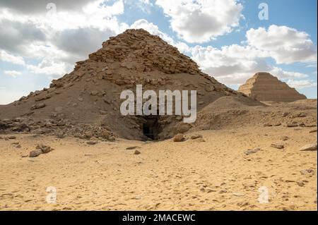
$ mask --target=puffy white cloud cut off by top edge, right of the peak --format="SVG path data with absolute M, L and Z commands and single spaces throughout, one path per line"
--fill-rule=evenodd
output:
M 242 4 L 236 0 L 157 0 L 172 30 L 189 43 L 208 42 L 240 25 Z

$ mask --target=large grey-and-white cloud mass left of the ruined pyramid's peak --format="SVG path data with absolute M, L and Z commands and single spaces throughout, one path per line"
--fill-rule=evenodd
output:
M 36 6 L 35 14 L 28 6 L 23 10 L 25 3 L 0 3 L 6 7 L 0 8 L 0 28 L 6 30 L 0 33 L 2 61 L 25 65 L 23 57 L 37 59 L 38 65 L 25 65 L 31 73 L 61 76 L 69 73 L 76 61 L 87 59 L 110 36 L 128 28 L 117 20 L 124 13 L 123 0 L 81 0 L 81 7 L 75 8 L 62 1 L 54 3 L 57 13 L 52 15 L 47 14 L 46 8 L 37 11 Z M 68 7 L 73 10 L 66 11 Z

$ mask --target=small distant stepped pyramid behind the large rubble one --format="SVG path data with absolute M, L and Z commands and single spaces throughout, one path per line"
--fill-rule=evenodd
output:
M 238 92 L 260 102 L 294 102 L 306 99 L 305 95 L 301 95 L 295 88 L 289 87 L 271 73 L 256 73 L 239 87 Z

